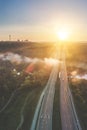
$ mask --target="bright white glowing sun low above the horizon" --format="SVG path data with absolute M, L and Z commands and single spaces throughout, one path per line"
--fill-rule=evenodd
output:
M 57 32 L 57 37 L 60 40 L 66 40 L 69 36 L 69 31 L 65 29 L 61 29 L 60 31 Z

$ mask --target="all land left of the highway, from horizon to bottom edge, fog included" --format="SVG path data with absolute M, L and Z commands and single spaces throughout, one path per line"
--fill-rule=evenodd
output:
M 54 51 L 53 43 L 0 42 L 0 130 L 30 129 L 52 69 L 41 61 Z

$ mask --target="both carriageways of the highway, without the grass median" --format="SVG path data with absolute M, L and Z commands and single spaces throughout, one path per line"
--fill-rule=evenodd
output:
M 62 130 L 82 130 L 75 110 L 73 97 L 68 85 L 65 50 L 62 49 L 60 56 L 60 115 Z M 36 108 L 31 130 L 52 130 L 53 101 L 55 94 L 55 84 L 58 75 L 58 64 L 55 64 L 50 74 L 49 80 L 43 90 Z

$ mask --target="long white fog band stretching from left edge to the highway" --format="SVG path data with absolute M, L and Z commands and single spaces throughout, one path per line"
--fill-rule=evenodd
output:
M 53 64 L 57 64 L 59 62 L 57 59 L 53 59 L 53 58 L 44 58 L 42 60 L 42 59 L 39 59 L 39 58 L 29 58 L 29 57 L 26 57 L 26 56 L 21 56 L 19 54 L 12 53 L 12 52 L 0 54 L 0 60 L 10 61 L 12 63 L 15 62 L 17 64 L 44 62 L 46 64 L 53 65 Z

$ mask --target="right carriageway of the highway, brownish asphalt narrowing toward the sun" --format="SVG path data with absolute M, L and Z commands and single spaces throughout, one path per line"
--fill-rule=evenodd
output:
M 61 58 L 60 114 L 62 130 L 82 130 L 74 107 L 72 94 L 68 85 L 64 50 L 62 51 Z

